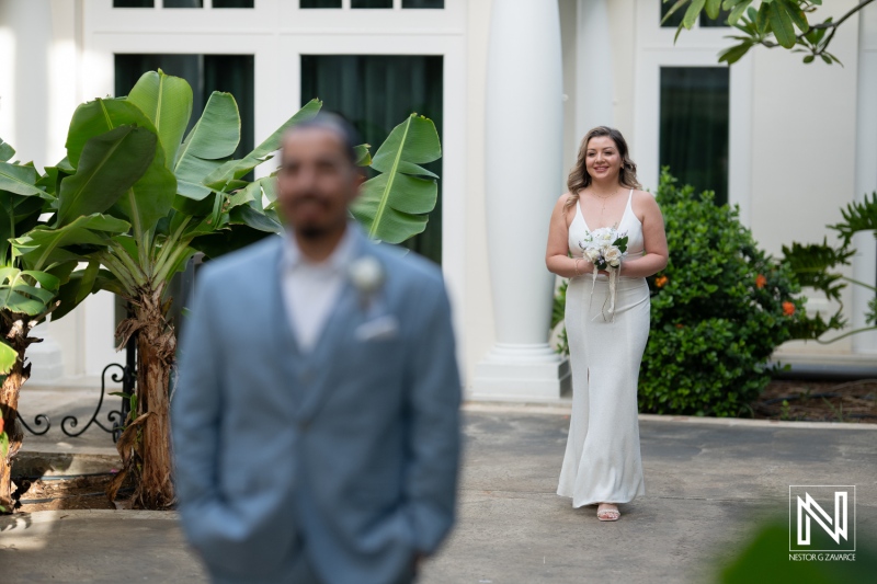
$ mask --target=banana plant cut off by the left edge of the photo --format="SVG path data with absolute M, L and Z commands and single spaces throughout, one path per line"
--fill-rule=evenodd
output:
M 15 151 L 0 140 L 0 426 L 5 430 L 0 507 L 7 511 L 13 508 L 11 469 L 23 439 L 18 402 L 31 373 L 25 352 L 39 341 L 31 330 L 62 305 L 69 311 L 81 301 L 59 297 L 60 286 L 83 260 L 78 251 L 106 244 L 129 227 L 100 215 L 101 197 L 123 192 L 139 178 L 138 161 L 153 144 L 148 131 L 119 128 L 82 145 L 79 172 L 61 161 L 39 174 L 33 164 L 9 162 Z M 65 205 L 59 205 L 60 193 Z M 83 206 L 82 201 L 95 203 Z M 45 215 L 57 217 L 55 225 L 41 220 Z M 13 247 L 15 241 L 21 245 Z

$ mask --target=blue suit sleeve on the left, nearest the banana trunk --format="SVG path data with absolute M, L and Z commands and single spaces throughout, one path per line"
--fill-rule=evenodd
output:
M 208 564 L 235 565 L 244 525 L 218 488 L 223 414 L 220 312 L 210 307 L 210 273 L 200 274 L 180 344 L 180 379 L 171 404 L 175 486 L 183 529 Z

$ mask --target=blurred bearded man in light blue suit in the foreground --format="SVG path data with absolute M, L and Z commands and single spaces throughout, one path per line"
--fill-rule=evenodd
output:
M 352 133 L 284 141 L 289 230 L 209 262 L 173 403 L 183 528 L 214 582 L 411 582 L 454 520 L 460 380 L 440 270 L 367 240 Z

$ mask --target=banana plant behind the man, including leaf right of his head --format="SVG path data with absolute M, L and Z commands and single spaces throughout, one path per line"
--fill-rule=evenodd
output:
M 52 220 L 12 234 L 15 257 L 35 272 L 9 272 L 8 280 L 29 297 L 49 301 L 57 294 L 56 314 L 101 289 L 132 307 L 117 337 L 125 344 L 136 335 L 136 408 L 118 440 L 124 468 L 111 497 L 134 478 L 135 504 L 161 508 L 174 502 L 169 388 L 176 339 L 168 316 L 170 279 L 196 252 L 214 257 L 282 230 L 274 176 L 248 176 L 272 158 L 288 128 L 320 107 L 319 101 L 309 102 L 241 159 L 231 158 L 240 140 L 235 99 L 214 92 L 186 131 L 192 89 L 160 70 L 145 73 L 127 96 L 98 99 L 73 114 L 67 159 L 46 179 L 60 185 L 54 196 L 47 193 Z M 374 159 L 367 145 L 357 149 L 360 164 L 371 165 L 375 175 L 353 215 L 372 238 L 397 243 L 424 229 L 437 185 L 420 164 L 440 156 L 433 123 L 415 114 L 392 130 Z M 39 272 L 78 262 L 87 267 L 71 274 L 71 265 L 64 278 L 50 280 Z M 20 279 L 30 288 L 21 288 Z

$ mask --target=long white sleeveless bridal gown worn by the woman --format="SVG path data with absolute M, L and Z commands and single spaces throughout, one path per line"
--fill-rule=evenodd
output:
M 628 257 L 641 255 L 642 224 L 627 199 L 618 231 L 627 231 Z M 569 249 L 589 232 L 579 203 L 569 226 Z M 591 298 L 592 275 L 570 279 L 566 325 L 572 367 L 572 415 L 557 494 L 572 506 L 627 503 L 646 494 L 639 454 L 637 380 L 649 337 L 649 286 L 646 278 L 618 279 L 615 319 L 608 313 L 608 277 L 599 275 Z

